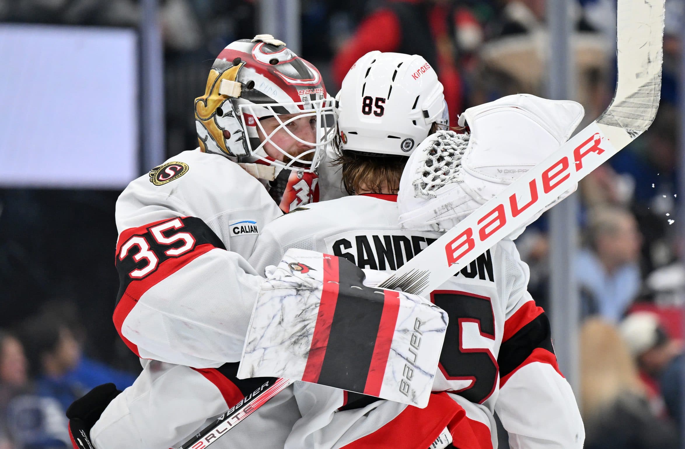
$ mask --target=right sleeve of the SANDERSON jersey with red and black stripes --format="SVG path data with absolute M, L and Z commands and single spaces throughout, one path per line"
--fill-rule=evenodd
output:
M 571 385 L 559 370 L 549 320 L 527 292 L 528 268 L 514 249 L 507 255 L 512 288 L 497 362 L 495 411 L 521 449 L 582 448 L 585 432 Z

